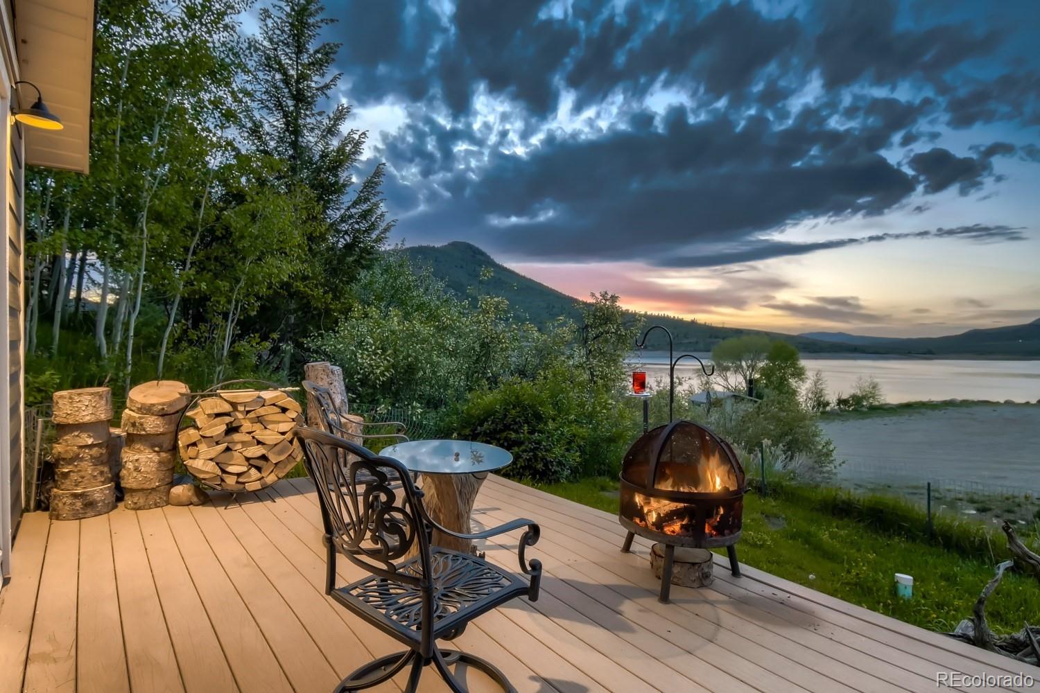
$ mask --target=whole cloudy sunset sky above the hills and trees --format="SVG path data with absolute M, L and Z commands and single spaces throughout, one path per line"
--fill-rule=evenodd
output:
M 327 4 L 396 240 L 726 325 L 1040 317 L 1040 2 Z

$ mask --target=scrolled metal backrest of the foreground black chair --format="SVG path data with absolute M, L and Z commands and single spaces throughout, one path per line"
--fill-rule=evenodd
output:
M 421 587 L 422 576 L 433 575 L 430 535 L 408 469 L 324 431 L 306 426 L 295 430 L 330 540 L 369 572 Z M 398 570 L 398 563 L 416 553 L 418 566 Z

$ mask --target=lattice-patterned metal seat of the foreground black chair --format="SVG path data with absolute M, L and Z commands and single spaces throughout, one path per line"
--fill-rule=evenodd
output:
M 528 590 L 526 582 L 477 556 L 431 547 L 431 559 L 434 638 Z M 419 577 L 418 557 L 398 563 L 397 572 Z M 398 637 L 419 640 L 422 591 L 418 587 L 392 578 L 369 576 L 334 590 L 333 596 L 370 621 L 389 622 Z

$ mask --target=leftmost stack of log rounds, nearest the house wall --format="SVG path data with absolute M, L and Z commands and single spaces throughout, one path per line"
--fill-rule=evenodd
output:
M 115 507 L 115 484 L 108 464 L 111 391 L 66 390 L 54 393 L 52 401 L 57 439 L 51 448 L 55 477 L 51 517 L 79 519 L 111 511 Z

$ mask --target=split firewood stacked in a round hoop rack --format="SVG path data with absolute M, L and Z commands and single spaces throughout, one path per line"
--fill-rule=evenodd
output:
M 289 473 L 304 451 L 294 431 L 303 407 L 280 390 L 222 390 L 185 415 L 178 449 L 188 472 L 214 488 L 260 490 Z

